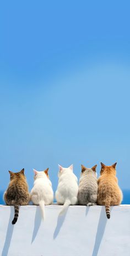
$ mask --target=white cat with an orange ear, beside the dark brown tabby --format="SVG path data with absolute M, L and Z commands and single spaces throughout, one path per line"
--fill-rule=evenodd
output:
M 53 202 L 52 184 L 48 176 L 48 168 L 45 171 L 34 169 L 34 187 L 31 190 L 31 201 L 41 208 L 42 219 L 45 219 L 45 205 Z

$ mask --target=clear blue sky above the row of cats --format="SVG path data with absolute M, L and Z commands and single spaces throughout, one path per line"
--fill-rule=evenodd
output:
M 129 189 L 129 1 L 3 1 L 0 190 L 8 170 L 117 161 Z

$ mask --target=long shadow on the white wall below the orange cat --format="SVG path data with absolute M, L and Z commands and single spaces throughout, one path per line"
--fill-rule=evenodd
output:
M 92 256 L 98 255 L 99 247 L 100 247 L 102 238 L 104 236 L 106 223 L 107 223 L 106 210 L 105 210 L 105 206 L 102 206 Z

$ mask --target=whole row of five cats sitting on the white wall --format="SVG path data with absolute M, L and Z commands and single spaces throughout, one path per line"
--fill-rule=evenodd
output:
M 106 216 L 110 218 L 110 206 L 120 205 L 122 201 L 122 191 L 118 186 L 116 177 L 116 163 L 106 166 L 101 163 L 100 177 L 97 179 L 96 166 L 86 168 L 82 165 L 82 172 L 79 179 L 73 173 L 73 165 L 68 168 L 59 166 L 58 187 L 56 190 L 56 200 L 58 205 L 63 205 L 59 215 L 62 215 L 69 205 L 104 205 Z M 31 200 L 34 205 L 41 208 L 42 218 L 45 217 L 45 205 L 53 202 L 52 184 L 45 171 L 34 170 L 34 187 L 29 194 L 28 184 L 24 175 L 24 169 L 19 173 L 9 171 L 10 182 L 8 189 L 4 192 L 4 201 L 7 205 L 14 206 L 14 219 L 12 224 L 18 220 L 19 206 L 28 205 Z

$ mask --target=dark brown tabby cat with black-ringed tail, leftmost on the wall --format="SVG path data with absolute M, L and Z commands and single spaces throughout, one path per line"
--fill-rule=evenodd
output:
M 19 173 L 13 173 L 9 171 L 10 182 L 8 189 L 4 192 L 4 201 L 7 205 L 14 206 L 14 219 L 12 224 L 15 224 L 18 220 L 19 206 L 28 205 L 30 201 L 30 194 L 28 190 L 28 184 L 24 175 L 24 169 Z

